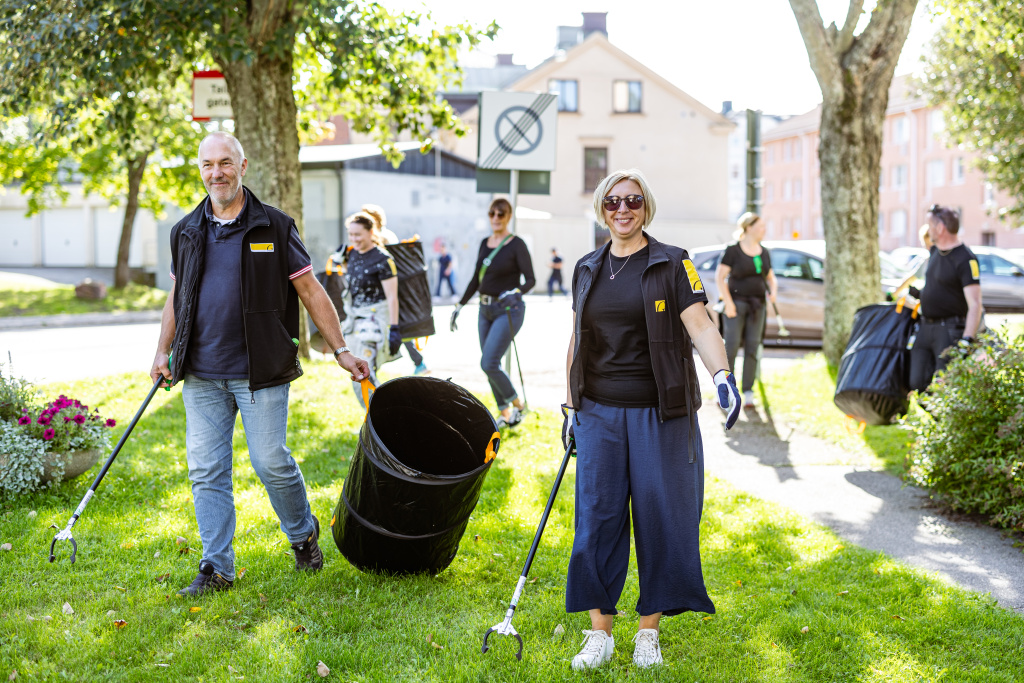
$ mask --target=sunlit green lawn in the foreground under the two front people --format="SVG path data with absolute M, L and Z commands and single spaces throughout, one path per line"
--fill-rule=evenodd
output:
M 292 385 L 290 445 L 326 525 L 362 415 L 336 367 L 306 364 L 306 370 Z M 44 388 L 99 407 L 120 430 L 148 382 L 126 375 Z M 666 665 L 637 672 L 630 658 L 634 561 L 618 605 L 625 613 L 616 618 L 613 660 L 573 674 L 569 659 L 581 629 L 589 628 L 586 614 L 564 611 L 574 461 L 513 621 L 525 641 L 523 659 L 513 656 L 513 640 L 495 636 L 481 654 L 484 631 L 504 617 L 561 460 L 560 418 L 542 411 L 505 438 L 459 555 L 436 577 L 360 573 L 329 535 L 324 570 L 296 573 L 240 427 L 241 575 L 230 591 L 182 600 L 174 592 L 193 580 L 201 558 L 183 423 L 180 390 L 158 392 L 75 528 L 74 565 L 66 559 L 68 544 L 58 562 L 47 562 L 54 532 L 48 526 L 65 525 L 96 469 L 55 489 L 0 502 L 0 543 L 12 545 L 0 552 L 0 675 L 305 681 L 319 680 L 316 666 L 324 661 L 327 680 L 386 683 L 1024 679 L 1019 615 L 715 479 L 701 531 L 705 578 L 718 613 L 665 620 Z M 66 602 L 74 613 L 62 611 Z M 116 620 L 126 624 L 118 628 Z M 556 636 L 559 625 L 565 633 Z

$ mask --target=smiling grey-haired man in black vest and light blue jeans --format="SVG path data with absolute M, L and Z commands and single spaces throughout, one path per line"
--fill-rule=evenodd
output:
M 174 284 L 150 371 L 154 381 L 183 382 L 203 559 L 181 596 L 226 590 L 234 581 L 231 435 L 239 413 L 249 460 L 295 552 L 295 568 L 324 564 L 319 521 L 285 443 L 289 383 L 302 375 L 300 299 L 352 381 L 370 374 L 345 346 L 338 313 L 312 274 L 295 221 L 243 186 L 248 161 L 239 140 L 227 133 L 206 136 L 199 167 L 209 196 L 171 229 Z

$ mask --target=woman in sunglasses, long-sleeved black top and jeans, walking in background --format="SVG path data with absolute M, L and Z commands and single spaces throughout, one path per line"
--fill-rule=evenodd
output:
M 512 386 L 512 380 L 502 369 L 502 356 L 526 314 L 522 295 L 537 284 L 534 263 L 526 243 L 509 232 L 512 205 L 508 200 L 497 199 L 487 211 L 490 219 L 490 237 L 480 243 L 476 257 L 476 270 L 466 286 L 466 292 L 452 312 L 452 332 L 455 332 L 459 311 L 469 303 L 473 294 L 480 292 L 480 315 L 477 331 L 480 335 L 480 368 L 487 375 L 490 391 L 501 415 L 499 427 L 514 427 L 522 420 L 524 405 Z

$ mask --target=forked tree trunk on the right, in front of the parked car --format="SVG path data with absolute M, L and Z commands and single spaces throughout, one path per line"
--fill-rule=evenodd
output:
M 838 366 L 853 313 L 882 298 L 879 267 L 879 172 L 889 86 L 918 0 L 878 0 L 871 20 L 854 31 L 864 0 L 851 0 L 842 29 L 821 23 L 815 0 L 790 0 L 821 88 L 818 159 L 825 232 L 822 347 Z

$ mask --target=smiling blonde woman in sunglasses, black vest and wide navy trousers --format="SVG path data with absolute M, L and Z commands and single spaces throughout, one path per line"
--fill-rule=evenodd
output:
M 640 171 L 602 180 L 594 212 L 611 241 L 572 273 L 562 438 L 566 449 L 574 439 L 578 459 L 565 609 L 589 611 L 592 627 L 572 658 L 575 670 L 612 654 L 631 507 L 640 577 L 633 663 L 662 664 L 663 615 L 715 611 L 700 568 L 703 452 L 693 347 L 729 410 L 727 428 L 739 414 L 739 391 L 689 256 L 644 230 L 654 209 Z

